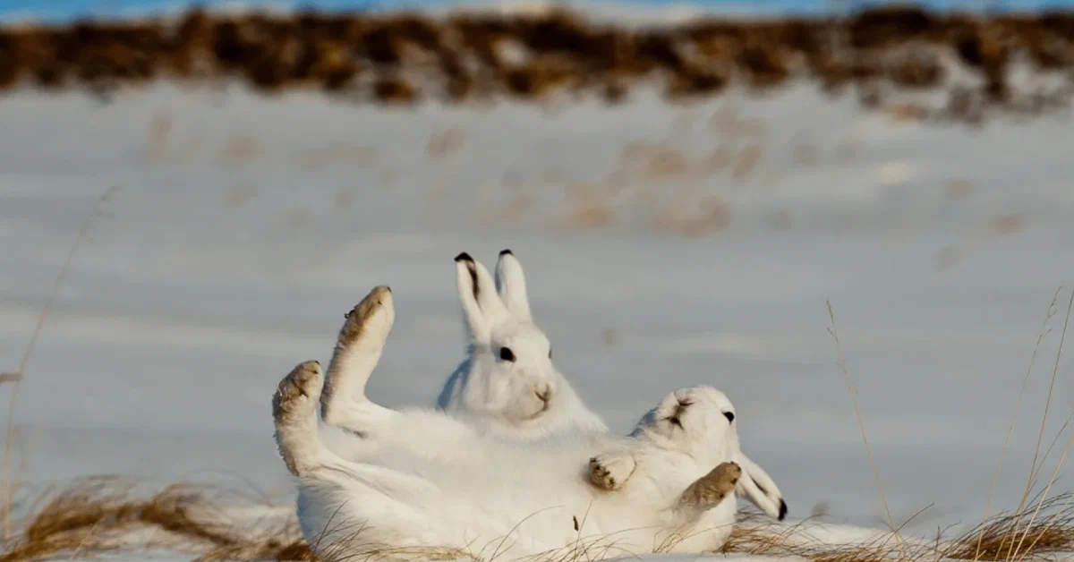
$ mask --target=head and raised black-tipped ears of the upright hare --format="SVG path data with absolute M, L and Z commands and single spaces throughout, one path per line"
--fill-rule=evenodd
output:
M 569 387 L 552 364 L 548 336 L 529 315 L 522 265 L 505 249 L 495 282 L 466 253 L 455 258 L 455 269 L 469 357 L 452 400 L 469 414 L 510 426 L 540 423 L 558 409 L 560 392 Z

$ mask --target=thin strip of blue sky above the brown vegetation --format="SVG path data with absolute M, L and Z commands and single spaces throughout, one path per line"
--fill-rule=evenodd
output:
M 325 10 L 368 9 L 368 8 L 416 8 L 422 5 L 445 5 L 459 0 L 238 0 L 245 4 L 274 3 L 291 5 L 314 5 Z M 564 0 L 571 5 L 584 6 L 593 0 Z M 830 10 L 832 4 L 847 5 L 850 0 L 615 0 L 618 3 L 635 3 L 657 8 L 665 4 L 694 4 L 720 11 L 734 10 L 741 13 L 756 9 L 758 12 L 818 13 Z M 234 3 L 235 0 L 203 0 L 202 5 Z M 855 5 L 877 3 L 877 0 L 853 0 Z M 1035 10 L 1045 6 L 1072 8 L 1074 0 L 920 0 L 920 3 L 941 10 Z M 182 0 L 0 0 L 0 20 L 12 17 L 32 16 L 46 20 L 66 20 L 75 17 L 114 17 L 131 13 L 154 13 L 171 11 L 190 5 Z

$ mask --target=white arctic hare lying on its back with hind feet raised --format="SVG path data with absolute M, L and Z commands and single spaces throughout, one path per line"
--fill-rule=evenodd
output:
M 668 394 L 626 437 L 578 431 L 504 438 L 440 410 L 392 410 L 365 398 L 393 315 L 390 289 L 377 287 L 347 322 L 365 376 L 338 380 L 352 397 L 339 404 L 366 446 L 360 462 L 319 439 L 316 403 L 328 388 L 319 363 L 297 365 L 273 398 L 276 442 L 300 477 L 299 518 L 318 556 L 368 549 L 427 557 L 429 548 L 464 556 L 489 546 L 518 556 L 585 548 L 605 558 L 700 552 L 726 542 L 731 492 L 750 469 L 728 462 L 741 451 L 735 409 L 722 392 L 699 386 Z M 629 474 L 593 486 L 599 459 L 613 456 L 630 459 Z M 593 550 L 603 541 L 609 544 Z

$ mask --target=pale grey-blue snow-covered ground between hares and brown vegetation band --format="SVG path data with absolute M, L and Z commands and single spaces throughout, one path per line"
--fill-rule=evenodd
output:
M 909 528 L 972 525 L 1048 303 L 1074 282 L 1072 144 L 1062 117 L 921 126 L 813 86 L 552 110 L 9 95 L 0 371 L 118 186 L 26 373 L 21 477 L 242 478 L 286 500 L 279 378 L 326 360 L 344 312 L 389 284 L 396 328 L 369 392 L 431 404 L 463 357 L 452 258 L 510 247 L 557 365 L 615 430 L 713 384 L 792 517 L 880 528 L 830 299 L 896 522 L 932 505 Z M 993 510 L 1022 491 L 1068 296 Z M 1074 407 L 1071 364 L 1045 445 Z

